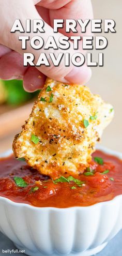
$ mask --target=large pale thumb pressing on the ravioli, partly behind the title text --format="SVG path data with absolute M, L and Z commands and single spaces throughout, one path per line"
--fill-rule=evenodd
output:
M 15 1 L 12 0 L 12 2 L 15 2 Z M 27 0 L 27 2 L 28 2 L 28 0 Z M 26 6 L 24 5 L 24 7 L 23 7 L 23 4 L 21 4 L 21 2 L 20 2 L 19 13 L 16 13 L 16 11 L 15 11 L 13 14 L 14 19 L 20 19 L 24 29 L 25 29 L 26 19 L 30 19 L 30 20 L 41 19 L 33 2 L 29 1 L 29 8 L 27 8 L 27 2 L 26 2 Z M 13 10 L 14 10 L 14 8 L 13 8 Z M 12 22 L 11 27 L 12 27 L 13 20 L 14 20 L 13 16 L 11 19 L 11 22 Z M 10 22 L 9 22 L 9 24 L 10 24 Z M 25 29 L 25 31 L 26 31 L 26 29 Z M 45 31 L 45 33 L 42 33 L 42 34 L 40 34 L 39 32 L 35 34 L 35 33 L 33 33 L 33 31 L 30 33 L 25 32 L 24 36 L 29 36 L 31 39 L 32 37 L 38 35 L 43 38 L 44 42 L 47 42 L 49 36 L 53 36 L 57 43 L 57 46 L 59 46 L 59 37 L 63 36 L 63 35 L 60 33 L 54 33 L 53 28 L 51 26 L 49 26 L 47 23 L 44 23 L 44 31 Z M 40 72 L 45 74 L 45 76 L 48 76 L 54 80 L 58 80 L 60 82 L 65 82 L 65 83 L 70 82 L 70 83 L 83 84 L 89 80 L 89 78 L 91 76 L 91 71 L 90 71 L 90 68 L 87 67 L 85 64 L 81 67 L 75 67 L 75 66 L 73 66 L 73 64 L 70 63 L 71 65 L 66 67 L 65 61 L 63 58 L 59 64 L 59 66 L 54 66 L 50 59 L 50 55 L 49 55 L 50 53 L 54 53 L 55 57 L 57 57 L 60 52 L 62 52 L 62 53 L 67 52 L 70 54 L 70 56 L 72 56 L 75 53 L 75 50 L 73 49 L 73 43 L 70 42 L 70 48 L 66 51 L 60 50 L 60 49 L 54 50 L 52 48 L 49 50 L 44 50 L 43 48 L 35 50 L 30 46 L 29 41 L 27 41 L 26 50 L 22 50 L 21 49 L 21 41 L 18 40 L 19 36 L 22 36 L 22 33 L 20 33 L 20 32 L 10 33 L 10 31 L 9 31 L 9 37 L 8 37 L 9 42 L 8 42 L 8 38 L 7 38 L 7 40 L 5 40 L 5 42 L 4 42 L 4 44 L 6 46 L 8 46 L 9 48 L 11 48 L 21 54 L 23 54 L 23 53 L 34 54 L 34 56 L 35 56 L 34 63 L 35 64 L 37 63 L 40 54 L 45 53 L 45 55 L 47 55 L 47 58 L 50 62 L 50 66 L 41 65 L 41 66 L 36 67 Z

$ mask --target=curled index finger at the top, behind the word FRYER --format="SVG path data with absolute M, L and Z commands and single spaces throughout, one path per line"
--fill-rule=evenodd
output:
M 91 0 L 55 0 L 53 2 L 50 0 L 41 0 L 38 2 L 39 3 L 37 5 L 50 8 L 50 20 L 52 27 L 54 19 L 64 19 L 64 21 L 66 19 L 82 19 L 83 21 L 85 19 L 93 19 L 93 8 L 91 5 Z M 74 35 L 72 31 L 68 34 L 66 33 L 65 24 L 63 28 L 59 28 L 58 31 L 69 37 Z M 80 26 L 77 26 L 77 31 L 78 33 L 75 33 L 75 35 L 81 36 L 82 33 Z M 85 36 L 87 35 L 91 35 L 90 24 L 88 24 L 87 31 L 85 33 Z

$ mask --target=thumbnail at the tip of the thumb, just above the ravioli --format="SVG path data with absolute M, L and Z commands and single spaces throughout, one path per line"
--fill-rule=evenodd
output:
M 91 69 L 86 65 L 81 67 L 73 67 L 70 73 L 67 74 L 65 80 L 70 83 L 85 84 L 91 77 Z

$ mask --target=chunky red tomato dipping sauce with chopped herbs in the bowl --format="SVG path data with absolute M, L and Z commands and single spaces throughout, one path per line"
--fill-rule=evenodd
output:
M 94 157 L 102 158 L 103 163 Z M 65 208 L 89 206 L 122 194 L 122 161 L 99 150 L 85 174 L 73 176 L 75 181 L 67 174 L 62 182 L 52 180 L 13 156 L 0 161 L 0 195 L 14 202 Z

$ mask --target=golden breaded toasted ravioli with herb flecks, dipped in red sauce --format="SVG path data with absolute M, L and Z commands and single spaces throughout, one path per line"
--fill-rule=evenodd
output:
M 81 173 L 113 112 L 110 104 L 86 86 L 48 78 L 22 132 L 13 141 L 14 155 L 52 177 Z

